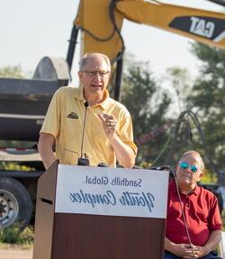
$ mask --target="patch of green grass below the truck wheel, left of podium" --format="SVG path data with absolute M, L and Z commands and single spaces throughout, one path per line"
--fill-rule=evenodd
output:
M 33 237 L 33 227 L 31 226 L 22 230 L 21 226 L 16 224 L 0 229 L 0 244 L 32 245 Z

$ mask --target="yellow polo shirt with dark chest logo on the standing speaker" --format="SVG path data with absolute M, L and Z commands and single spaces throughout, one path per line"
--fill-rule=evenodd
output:
M 88 107 L 83 154 L 89 158 L 90 165 L 105 163 L 116 165 L 116 157 L 103 125 L 97 117 L 99 113 L 113 114 L 117 120 L 117 134 L 135 153 L 130 113 L 121 104 L 109 97 L 105 90 L 103 103 Z M 84 129 L 85 98 L 83 88 L 61 87 L 53 95 L 40 133 L 49 133 L 56 138 L 56 158 L 60 164 L 76 165 L 81 156 L 81 141 Z

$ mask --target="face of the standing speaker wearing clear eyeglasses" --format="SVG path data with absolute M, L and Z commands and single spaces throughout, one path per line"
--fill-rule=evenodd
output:
M 110 71 L 104 58 L 94 56 L 87 59 L 84 71 L 80 71 L 78 75 L 87 97 L 91 94 L 103 94 L 109 82 Z

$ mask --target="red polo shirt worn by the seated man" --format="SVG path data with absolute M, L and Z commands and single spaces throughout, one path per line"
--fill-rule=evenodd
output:
M 211 231 L 222 229 L 217 198 L 199 186 L 187 195 L 180 195 L 191 242 L 194 246 L 203 246 Z M 175 244 L 189 243 L 174 180 L 168 189 L 166 237 Z

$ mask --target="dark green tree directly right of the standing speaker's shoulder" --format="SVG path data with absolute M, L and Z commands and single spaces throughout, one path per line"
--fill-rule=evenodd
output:
M 148 63 L 133 60 L 129 62 L 123 74 L 121 103 L 130 111 L 135 138 L 166 123 L 170 102 L 168 95 L 162 92 L 149 72 Z M 143 162 L 151 164 L 164 147 L 167 138 L 167 133 L 163 132 L 139 146 L 137 165 L 143 165 Z M 157 163 L 160 161 L 163 161 L 162 157 Z

